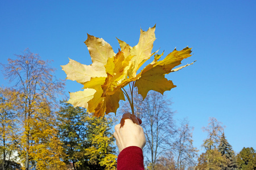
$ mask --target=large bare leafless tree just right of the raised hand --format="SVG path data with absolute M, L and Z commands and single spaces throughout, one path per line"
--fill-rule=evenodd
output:
M 138 95 L 137 88 L 133 92 L 134 112 L 137 117 L 142 120 L 142 127 L 146 136 L 146 146 L 144 154 L 147 158 L 146 164 L 150 165 L 151 169 L 155 169 L 155 164 L 167 148 L 167 142 L 170 142 L 174 134 L 173 112 L 170 109 L 171 101 L 167 100 L 159 92 L 150 91 L 147 97 L 143 100 L 141 95 Z M 129 111 L 130 105 L 125 102 L 122 105 L 122 113 Z

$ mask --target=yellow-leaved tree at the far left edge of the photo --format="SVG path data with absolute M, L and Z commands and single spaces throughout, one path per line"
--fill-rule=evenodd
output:
M 0 87 L 0 169 L 11 168 L 11 162 L 17 162 L 16 151 L 16 113 L 15 101 L 18 92 Z M 18 168 L 18 167 L 16 167 Z

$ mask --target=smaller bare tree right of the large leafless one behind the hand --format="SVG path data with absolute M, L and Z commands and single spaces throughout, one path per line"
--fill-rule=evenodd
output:
M 195 166 L 197 148 L 193 147 L 192 131 L 187 120 L 181 122 L 180 127 L 176 130 L 175 139 L 172 143 L 172 153 L 175 155 L 176 168 L 184 169 L 189 165 Z

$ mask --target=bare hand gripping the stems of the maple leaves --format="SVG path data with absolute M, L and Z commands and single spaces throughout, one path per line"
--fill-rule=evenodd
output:
M 141 149 L 145 146 L 146 138 L 140 126 L 141 123 L 141 119 L 137 118 L 135 114 L 123 114 L 121 123 L 115 125 L 114 132 L 119 152 L 129 146 L 138 146 Z

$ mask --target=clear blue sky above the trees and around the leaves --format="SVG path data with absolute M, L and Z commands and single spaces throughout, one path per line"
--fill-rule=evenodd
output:
M 139 29 L 156 24 L 154 49 L 192 47 L 197 62 L 167 76 L 176 88 L 175 118 L 188 117 L 201 148 L 209 117 L 225 126 L 234 151 L 256 149 L 256 1 L 0 1 L 0 62 L 24 49 L 53 59 L 57 78 L 69 58 L 89 65 L 86 33 L 118 51 L 118 39 L 137 44 Z M 8 83 L 0 75 L 0 85 Z M 80 90 L 67 80 L 66 91 Z

